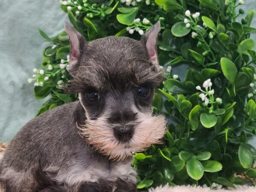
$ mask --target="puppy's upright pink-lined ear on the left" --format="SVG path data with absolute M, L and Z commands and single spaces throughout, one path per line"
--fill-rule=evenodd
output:
M 65 23 L 65 30 L 70 37 L 70 64 L 67 66 L 67 71 L 73 75 L 74 70 L 78 67 L 78 61 L 86 45 L 86 40 L 68 23 Z

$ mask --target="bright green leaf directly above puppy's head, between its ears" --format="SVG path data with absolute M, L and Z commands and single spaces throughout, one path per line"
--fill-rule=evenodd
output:
M 119 8 L 121 9 L 121 8 Z M 134 18 L 137 14 L 137 7 L 134 8 L 122 8 L 122 12 L 127 12 L 127 13 L 122 13 L 116 15 L 116 19 L 119 21 L 119 23 L 122 23 L 124 25 L 131 25 L 134 22 Z M 126 10 L 126 11 L 124 11 Z

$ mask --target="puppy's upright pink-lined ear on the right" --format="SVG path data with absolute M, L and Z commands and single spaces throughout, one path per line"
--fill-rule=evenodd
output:
M 140 42 L 146 47 L 148 57 L 158 69 L 157 61 L 157 35 L 160 31 L 160 21 L 157 21 L 141 38 Z

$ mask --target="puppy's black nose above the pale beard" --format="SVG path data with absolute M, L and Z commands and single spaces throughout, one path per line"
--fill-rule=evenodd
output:
M 117 126 L 113 130 L 115 137 L 122 142 L 131 140 L 134 134 L 133 126 Z

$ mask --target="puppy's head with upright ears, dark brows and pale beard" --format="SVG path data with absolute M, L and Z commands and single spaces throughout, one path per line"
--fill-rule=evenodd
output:
M 70 36 L 67 70 L 74 78 L 67 90 L 79 94 L 87 118 L 80 134 L 115 160 L 159 143 L 165 119 L 151 115 L 151 100 L 163 80 L 156 52 L 160 23 L 141 41 L 107 37 L 87 43 L 73 27 L 65 28 Z

